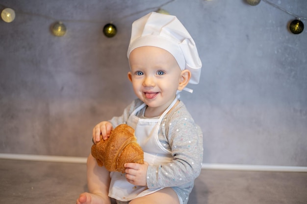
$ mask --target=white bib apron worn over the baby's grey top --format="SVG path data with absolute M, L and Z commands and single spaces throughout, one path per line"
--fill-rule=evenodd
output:
M 149 165 L 165 164 L 173 160 L 171 152 L 161 145 L 158 139 L 158 131 L 163 117 L 175 105 L 177 100 L 176 97 L 159 118 L 148 119 L 136 116 L 136 113 L 146 106 L 145 103 L 136 108 L 128 118 L 127 124 L 134 129 L 137 141 L 144 151 L 144 160 Z M 148 189 L 147 186 L 133 185 L 126 180 L 125 173 L 121 172 L 111 172 L 110 177 L 108 196 L 118 201 L 131 201 L 162 189 Z

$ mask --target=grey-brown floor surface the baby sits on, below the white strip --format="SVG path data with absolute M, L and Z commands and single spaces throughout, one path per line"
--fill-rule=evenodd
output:
M 85 164 L 0 159 L 1 204 L 74 204 Z M 307 173 L 203 170 L 188 204 L 307 204 Z

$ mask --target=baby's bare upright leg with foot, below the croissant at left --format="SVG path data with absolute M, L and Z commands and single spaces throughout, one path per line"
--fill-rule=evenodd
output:
M 77 204 L 111 204 L 108 197 L 110 172 L 98 166 L 92 155 L 87 158 L 87 185 L 90 193 L 80 194 Z

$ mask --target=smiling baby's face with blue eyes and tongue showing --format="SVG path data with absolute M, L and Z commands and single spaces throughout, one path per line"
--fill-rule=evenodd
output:
M 128 78 L 133 90 L 149 107 L 165 110 L 174 100 L 181 69 L 168 51 L 153 46 L 138 47 L 130 53 Z

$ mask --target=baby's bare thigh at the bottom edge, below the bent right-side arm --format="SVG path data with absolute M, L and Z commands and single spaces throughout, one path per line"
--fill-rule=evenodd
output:
M 136 198 L 129 204 L 179 204 L 179 198 L 173 188 L 163 188 L 157 192 Z

